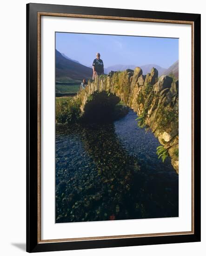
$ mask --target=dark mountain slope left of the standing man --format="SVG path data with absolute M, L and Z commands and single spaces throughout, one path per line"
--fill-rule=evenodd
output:
M 86 80 L 91 79 L 93 70 L 78 62 L 66 59 L 59 51 L 56 50 L 56 81 L 62 78 L 66 80 Z

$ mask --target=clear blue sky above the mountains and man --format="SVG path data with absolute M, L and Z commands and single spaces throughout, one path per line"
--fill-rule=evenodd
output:
M 105 67 L 156 64 L 168 68 L 179 59 L 176 38 L 57 32 L 56 49 L 85 66 L 92 66 L 97 52 Z

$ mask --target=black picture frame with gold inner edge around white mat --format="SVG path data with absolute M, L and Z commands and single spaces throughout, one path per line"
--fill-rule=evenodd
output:
M 192 230 L 189 232 L 41 240 L 40 230 L 40 17 L 63 16 L 191 24 Z M 200 14 L 27 4 L 27 252 L 200 241 Z

